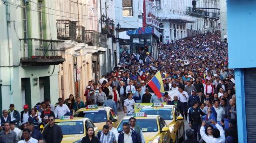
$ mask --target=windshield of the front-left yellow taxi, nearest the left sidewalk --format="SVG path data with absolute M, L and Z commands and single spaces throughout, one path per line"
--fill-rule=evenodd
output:
M 82 121 L 56 122 L 55 124 L 61 126 L 63 135 L 74 135 L 84 133 Z

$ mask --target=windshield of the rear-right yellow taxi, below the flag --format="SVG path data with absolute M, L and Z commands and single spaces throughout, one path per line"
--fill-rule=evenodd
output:
M 144 112 L 147 115 L 160 115 L 164 120 L 172 120 L 173 119 L 171 108 L 141 109 L 140 112 Z

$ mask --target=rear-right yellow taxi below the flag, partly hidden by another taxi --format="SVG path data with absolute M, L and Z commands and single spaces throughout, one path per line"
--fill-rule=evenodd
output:
M 169 127 L 173 143 L 181 143 L 185 139 L 184 118 L 175 105 L 154 103 L 151 106 L 142 107 L 140 112 L 147 115 L 160 115 Z

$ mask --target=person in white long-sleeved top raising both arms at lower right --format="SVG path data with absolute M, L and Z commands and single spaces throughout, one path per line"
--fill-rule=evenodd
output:
M 207 136 L 205 134 L 205 128 L 204 128 L 206 122 L 203 121 L 202 126 L 200 128 L 200 134 L 201 134 L 202 140 L 206 143 L 225 143 L 225 131 L 223 130 L 223 128 L 214 120 L 210 120 L 210 121 L 212 124 L 215 124 L 217 129 L 207 128 L 207 132 L 209 132 L 208 130 L 212 130 L 212 136 L 211 135 Z

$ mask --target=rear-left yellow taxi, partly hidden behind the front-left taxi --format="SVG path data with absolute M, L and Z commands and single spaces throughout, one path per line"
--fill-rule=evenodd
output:
M 87 117 L 93 121 L 98 129 L 102 129 L 108 120 L 113 122 L 113 126 L 118 125 L 118 117 L 110 107 L 98 107 L 97 105 L 88 105 L 74 113 L 74 117 Z

